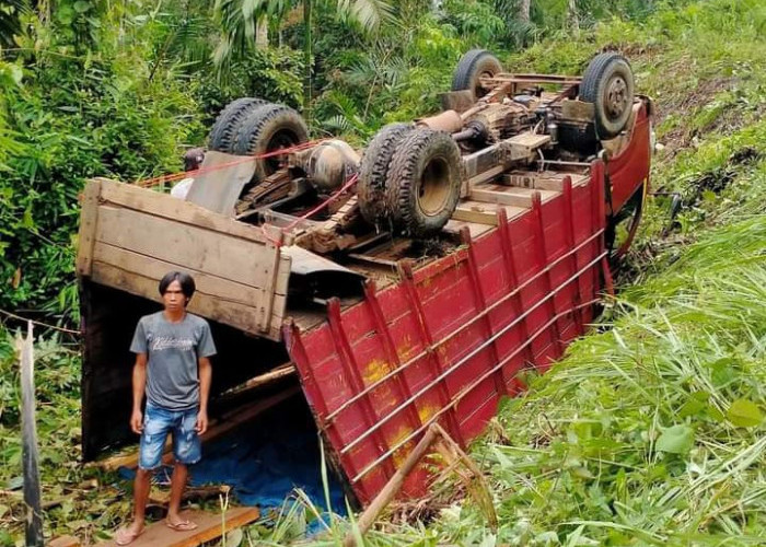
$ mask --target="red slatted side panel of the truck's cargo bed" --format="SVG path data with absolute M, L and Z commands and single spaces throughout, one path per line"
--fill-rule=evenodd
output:
M 301 333 L 288 351 L 329 449 L 362 504 L 391 478 L 429 423 L 466 445 L 592 321 L 604 257 L 603 164 L 526 213 Z M 405 496 L 427 487 L 421 465 Z

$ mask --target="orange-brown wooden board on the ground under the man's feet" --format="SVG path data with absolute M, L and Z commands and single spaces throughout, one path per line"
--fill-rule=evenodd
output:
M 132 547 L 197 547 L 221 537 L 224 533 L 245 526 L 260 517 L 258 508 L 234 508 L 225 513 L 211 513 L 201 510 L 182 511 L 179 516 L 197 523 L 195 529 L 176 532 L 165 524 L 164 519 L 147 526 L 143 534 L 130 545 Z M 114 540 L 97 544 L 100 547 L 117 545 Z

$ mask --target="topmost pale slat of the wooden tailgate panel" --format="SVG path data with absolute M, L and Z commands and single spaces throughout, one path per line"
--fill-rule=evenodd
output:
M 101 183 L 101 198 L 104 201 L 248 241 L 267 242 L 264 233 L 255 226 L 208 211 L 169 194 L 160 194 L 108 178 L 96 178 L 95 181 Z

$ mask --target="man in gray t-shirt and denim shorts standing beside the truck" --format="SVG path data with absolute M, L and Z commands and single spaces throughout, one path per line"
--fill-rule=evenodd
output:
M 171 271 L 160 281 L 164 310 L 141 317 L 130 351 L 136 353 L 132 372 L 134 409 L 130 429 L 141 435 L 134 487 L 134 521 L 119 529 L 117 545 L 128 545 L 143 532 L 144 509 L 152 470 L 162 464 L 167 433 L 173 434 L 175 465 L 166 524 L 176 531 L 197 527 L 178 515 L 188 465 L 201 456 L 199 435 L 208 429 L 208 395 L 216 354 L 208 323 L 186 312 L 195 291 L 187 274 Z M 141 401 L 147 395 L 146 417 Z

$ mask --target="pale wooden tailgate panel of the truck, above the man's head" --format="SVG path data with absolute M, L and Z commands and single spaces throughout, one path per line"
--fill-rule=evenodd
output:
M 160 279 L 187 271 L 197 282 L 190 312 L 279 340 L 290 257 L 277 243 L 194 203 L 95 179 L 84 191 L 77 267 L 96 283 L 156 302 Z

